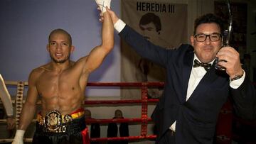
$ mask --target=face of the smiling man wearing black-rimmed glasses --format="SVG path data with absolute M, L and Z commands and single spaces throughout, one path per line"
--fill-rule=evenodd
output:
M 212 33 L 220 33 L 220 27 L 216 23 L 202 23 L 196 29 L 196 34 L 210 35 Z M 210 41 L 209 37 L 206 37 L 204 42 L 198 42 L 194 36 L 191 36 L 191 45 L 195 50 L 196 56 L 201 62 L 211 62 L 215 59 L 215 55 L 221 48 L 222 40 Z

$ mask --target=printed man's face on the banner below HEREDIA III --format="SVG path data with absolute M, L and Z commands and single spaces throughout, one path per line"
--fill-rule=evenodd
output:
M 144 38 L 148 39 L 151 42 L 154 42 L 158 38 L 159 33 L 156 31 L 156 26 L 153 22 L 150 22 L 146 25 L 139 25 L 139 28 L 142 30 L 142 35 Z

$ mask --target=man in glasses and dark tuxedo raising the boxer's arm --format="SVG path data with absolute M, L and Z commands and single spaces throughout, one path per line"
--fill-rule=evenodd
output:
M 220 18 L 212 13 L 197 18 L 191 45 L 166 50 L 127 26 L 114 11 L 110 16 L 126 43 L 142 57 L 166 68 L 164 94 L 151 116 L 158 131 L 156 143 L 213 143 L 218 113 L 228 96 L 238 116 L 256 117 L 255 87 L 242 70 L 239 53 L 230 46 L 221 48 Z M 216 57 L 224 71 L 212 65 Z

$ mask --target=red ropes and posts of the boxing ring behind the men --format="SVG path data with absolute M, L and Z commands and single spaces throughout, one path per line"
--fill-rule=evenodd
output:
M 18 120 L 21 116 L 21 109 L 24 103 L 24 93 L 26 87 L 28 87 L 28 82 L 5 82 L 6 87 L 16 87 L 16 97 L 12 100 L 16 112 L 14 112 L 14 118 L 16 119 L 16 128 L 18 127 Z M 86 100 L 85 105 L 110 105 L 110 106 L 119 106 L 119 105 L 130 105 L 137 104 L 142 106 L 140 118 L 117 118 L 117 119 L 87 119 L 86 123 L 139 123 L 141 125 L 140 135 L 136 136 L 127 136 L 127 137 L 114 137 L 114 138 L 90 138 L 90 141 L 108 141 L 108 140 L 154 140 L 156 135 L 149 135 L 147 133 L 148 123 L 152 123 L 151 118 L 148 116 L 151 113 L 148 113 L 148 104 L 156 104 L 158 99 L 148 99 L 147 92 L 149 87 L 164 87 L 164 82 L 88 82 L 87 87 L 119 87 L 119 88 L 129 88 L 135 87 L 141 89 L 141 99 L 130 99 L 130 100 L 107 100 L 107 101 L 95 101 L 95 100 Z M 40 101 L 37 104 L 41 104 Z M 223 109 L 220 111 L 219 123 L 217 124 L 216 129 L 216 141 L 218 143 L 231 143 L 231 123 L 232 123 L 232 106 L 227 102 L 224 104 Z M 35 122 L 36 119 L 33 119 Z M 223 124 L 220 122 L 223 121 Z M 0 119 L 0 123 L 6 123 L 6 119 Z M 229 124 L 227 124 L 229 123 Z M 223 128 L 225 126 L 225 128 Z M 0 139 L 0 143 L 11 142 L 13 138 Z M 32 138 L 24 138 L 24 142 L 31 142 Z

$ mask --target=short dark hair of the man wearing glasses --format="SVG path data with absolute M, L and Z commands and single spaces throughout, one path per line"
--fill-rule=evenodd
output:
M 199 18 L 196 18 L 195 24 L 194 24 L 194 31 L 193 34 L 196 35 L 196 28 L 198 28 L 199 25 L 202 23 L 216 23 L 218 26 L 220 26 L 220 33 L 223 34 L 223 21 L 218 16 L 215 16 L 213 13 L 207 13 Z

